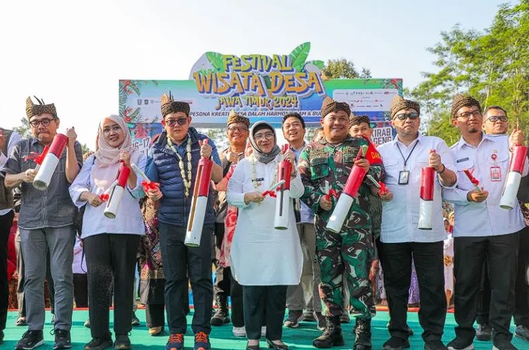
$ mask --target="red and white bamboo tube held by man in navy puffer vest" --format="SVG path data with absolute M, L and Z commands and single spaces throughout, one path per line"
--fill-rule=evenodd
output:
M 209 158 L 201 158 L 198 162 L 197 177 L 195 178 L 195 187 L 193 188 L 193 200 L 191 201 L 191 210 L 188 218 L 188 228 L 186 230 L 186 239 L 184 239 L 186 246 L 200 246 L 212 168 L 213 161 Z

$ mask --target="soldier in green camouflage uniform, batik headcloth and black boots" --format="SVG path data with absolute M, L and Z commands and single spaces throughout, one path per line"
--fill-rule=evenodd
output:
M 375 157 L 368 161 L 363 158 L 355 161 L 360 146 L 369 142 L 362 137 L 348 135 L 351 109 L 346 103 L 339 103 L 326 97 L 322 104 L 322 125 L 325 137 L 320 142 L 305 146 L 299 156 L 299 172 L 305 194 L 302 200 L 315 213 L 316 250 L 320 261 L 320 296 L 322 313 L 326 318 L 327 329 L 312 345 L 329 348 L 343 345 L 339 316 L 343 306 L 341 296 L 342 273 L 348 277 L 351 293 L 351 306 L 361 314 L 355 325 L 355 350 L 371 349 L 371 318 L 375 314 L 372 286 L 369 281 L 370 263 L 375 254 L 375 243 L 371 234 L 369 214 L 370 194 L 368 180 L 360 186 L 341 232 L 325 229 L 332 215 L 337 199 L 325 196 L 325 182 L 341 193 L 345 187 L 351 167 L 360 166 L 377 179 L 383 179 L 382 160 Z

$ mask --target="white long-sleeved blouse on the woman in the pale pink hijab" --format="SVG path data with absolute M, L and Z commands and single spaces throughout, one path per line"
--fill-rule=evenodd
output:
M 142 178 L 138 177 L 136 187 L 130 189 L 127 185 L 126 191 L 123 193 L 121 204 L 119 205 L 116 218 L 109 219 L 103 212 L 106 204 L 93 207 L 87 204 L 87 201 L 81 201 L 80 195 L 83 192 L 92 192 L 95 194 L 102 194 L 103 189 L 95 185 L 92 177 L 92 166 L 94 165 L 94 156 L 87 158 L 83 164 L 83 168 L 79 171 L 77 177 L 70 186 L 70 196 L 75 206 L 78 208 L 84 206 L 85 215 L 83 215 L 83 230 L 81 238 L 86 238 L 94 235 L 101 235 L 103 233 L 121 233 L 128 235 L 145 235 L 145 226 L 143 225 L 142 213 L 140 210 L 140 198 L 145 196 L 142 189 Z M 132 162 L 132 161 L 131 161 Z M 136 165 L 140 170 L 145 171 L 146 158 L 144 154 L 139 154 Z M 111 180 L 111 179 L 109 179 Z M 112 182 L 112 181 L 111 181 Z

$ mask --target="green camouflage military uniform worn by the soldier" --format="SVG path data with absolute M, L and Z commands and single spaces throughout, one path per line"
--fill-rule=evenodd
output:
M 322 280 L 322 314 L 326 316 L 341 315 L 344 269 L 351 292 L 351 306 L 363 313 L 362 318 L 371 318 L 375 313 L 369 281 L 370 263 L 375 256 L 375 239 L 371 233 L 369 208 L 370 188 L 367 186 L 369 180 L 364 179 L 360 186 L 341 232 L 334 233 L 325 229 L 337 199 L 332 200 L 330 211 L 320 208 L 325 181 L 340 194 L 346 185 L 360 146 L 368 144 L 367 140 L 361 137 L 347 136 L 338 146 L 323 139 L 305 146 L 299 156 L 298 170 L 305 185 L 305 194 L 301 199 L 315 213 L 316 250 Z M 369 173 L 377 180 L 382 180 L 385 174 L 382 160 L 380 159 L 379 163 L 371 161 L 370 165 Z

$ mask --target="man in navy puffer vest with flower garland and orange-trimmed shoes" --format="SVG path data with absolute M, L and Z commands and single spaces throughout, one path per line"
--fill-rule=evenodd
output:
M 213 303 L 211 239 L 215 222 L 211 195 L 207 199 L 200 246 L 186 246 L 184 239 L 198 161 L 201 157 L 212 157 L 214 182 L 222 179 L 222 170 L 213 141 L 189 126 L 189 112 L 186 102 L 174 101 L 171 94 L 162 95 L 164 131 L 149 150 L 146 166 L 147 177 L 160 184 L 159 189 L 149 190 L 147 196 L 159 201 L 160 248 L 166 278 L 165 305 L 171 332 L 166 350 L 183 349 L 187 322 L 182 300 L 188 290 L 187 277 L 191 282 L 195 306 L 192 324 L 194 349 L 210 349 L 209 319 Z M 204 142 L 206 139 L 208 142 Z

